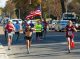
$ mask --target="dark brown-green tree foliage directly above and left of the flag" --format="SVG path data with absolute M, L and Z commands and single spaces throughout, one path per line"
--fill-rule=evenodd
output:
M 38 5 L 37 0 L 31 0 L 31 4 L 29 4 L 30 0 L 13 0 L 13 3 L 15 3 L 16 9 L 20 9 L 21 18 L 24 19 L 31 10 L 34 10 L 36 6 Z M 16 12 L 18 15 L 18 12 Z

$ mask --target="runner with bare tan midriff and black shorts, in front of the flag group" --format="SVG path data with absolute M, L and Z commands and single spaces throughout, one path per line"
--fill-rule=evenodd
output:
M 26 47 L 27 47 L 27 53 L 29 54 L 29 48 L 31 46 L 31 38 L 32 38 L 32 29 L 30 26 L 27 26 L 25 29 L 25 39 L 26 39 Z

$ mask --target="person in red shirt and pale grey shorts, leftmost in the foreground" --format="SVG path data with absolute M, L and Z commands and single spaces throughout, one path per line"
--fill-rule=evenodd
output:
M 11 46 L 11 43 L 12 43 L 12 37 L 13 37 L 13 31 L 15 30 L 15 27 L 12 24 L 11 20 L 8 21 L 8 23 L 5 26 L 5 29 L 8 32 L 8 39 L 7 39 L 8 40 L 8 50 L 10 50 L 10 46 Z

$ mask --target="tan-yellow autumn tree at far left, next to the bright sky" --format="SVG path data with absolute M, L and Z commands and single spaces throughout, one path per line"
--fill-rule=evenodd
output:
M 5 16 L 9 16 L 11 18 L 15 18 L 15 5 L 9 0 L 7 1 L 6 7 L 3 9 L 3 12 L 5 13 Z

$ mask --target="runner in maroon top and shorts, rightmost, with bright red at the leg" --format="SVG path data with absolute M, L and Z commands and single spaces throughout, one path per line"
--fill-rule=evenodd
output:
M 66 38 L 68 40 L 68 52 L 70 53 L 71 48 L 74 48 L 74 32 L 77 32 L 76 28 L 73 26 L 72 21 L 68 22 L 66 26 Z

